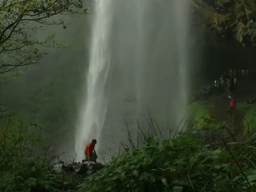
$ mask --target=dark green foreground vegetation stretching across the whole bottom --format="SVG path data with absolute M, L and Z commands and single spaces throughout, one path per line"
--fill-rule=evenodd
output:
M 167 192 L 175 187 L 182 187 L 182 192 L 256 190 L 255 134 L 245 143 L 228 143 L 225 139 L 213 145 L 208 137 L 198 137 L 200 130 L 163 138 L 161 129 L 151 126 L 154 130 L 148 133 L 159 132 L 158 139 L 140 129 L 138 145 L 129 138 L 130 145 L 122 145 L 123 153 L 113 157 L 102 171 L 83 179 L 55 172 L 50 165 L 52 159 L 34 153 L 42 140 L 37 135 L 37 124 L 23 124 L 20 116 L 3 108 L 0 114 L 0 191 Z M 204 130 L 218 129 L 220 124 L 229 128 L 228 124 L 203 118 Z

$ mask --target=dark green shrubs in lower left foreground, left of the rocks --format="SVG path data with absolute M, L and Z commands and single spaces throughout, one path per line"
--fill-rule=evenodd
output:
M 46 153 L 35 153 L 42 140 L 36 124 L 24 126 L 3 107 L 0 122 L 0 191 L 53 192 L 79 184 L 81 178 L 76 175 L 54 172 Z

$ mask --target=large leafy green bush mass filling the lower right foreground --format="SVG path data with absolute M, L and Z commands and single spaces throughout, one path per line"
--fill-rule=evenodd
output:
M 174 139 L 146 139 L 146 145 L 126 148 L 108 168 L 85 179 L 79 192 L 256 190 L 255 150 L 250 143 L 225 141 L 217 149 L 205 145 L 193 133 Z

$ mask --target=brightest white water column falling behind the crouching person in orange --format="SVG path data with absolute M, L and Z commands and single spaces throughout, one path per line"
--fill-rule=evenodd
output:
M 95 0 L 91 37 L 90 63 L 87 75 L 87 92 L 81 106 L 76 128 L 75 151 L 78 161 L 84 158 L 83 150 L 92 138 L 98 139 L 105 122 L 107 100 L 104 95 L 110 67 L 110 30 L 112 0 Z M 97 145 L 100 145 L 98 139 Z

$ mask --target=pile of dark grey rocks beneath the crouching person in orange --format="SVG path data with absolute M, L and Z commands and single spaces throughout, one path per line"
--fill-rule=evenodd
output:
M 105 166 L 102 165 L 99 162 L 93 162 L 93 161 L 82 161 L 80 162 L 74 162 L 70 164 L 66 164 L 63 161 L 55 162 L 53 165 L 53 169 L 57 172 L 76 172 L 80 175 L 91 175 L 101 169 L 103 169 Z

